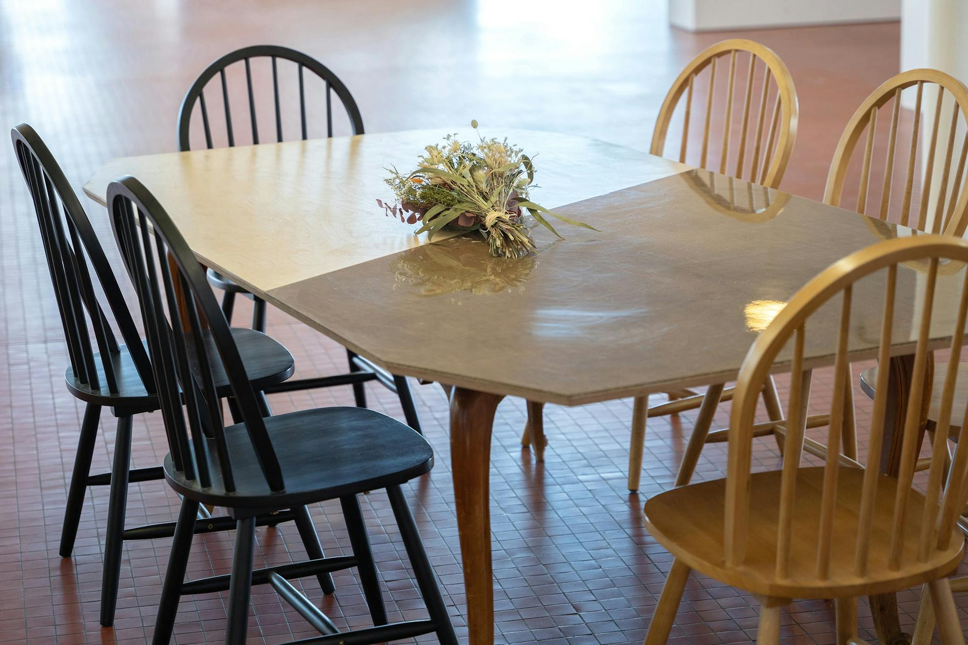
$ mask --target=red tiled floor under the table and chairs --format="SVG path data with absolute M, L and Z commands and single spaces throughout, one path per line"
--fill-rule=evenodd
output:
M 79 190 L 111 157 L 174 149 L 175 115 L 195 75 L 225 51 L 278 43 L 305 49 L 347 82 L 368 132 L 465 123 L 583 132 L 646 147 L 654 115 L 681 65 L 721 34 L 669 30 L 664 3 L 624 0 L 595 6 L 553 0 L 354 3 L 245 0 L 219 3 L 156 0 L 0 1 L 0 115 L 27 121 L 45 137 Z M 801 140 L 784 188 L 821 195 L 842 124 L 862 98 L 897 71 L 896 24 L 786 29 L 731 34 L 769 44 L 783 57 L 801 94 Z M 522 88 L 528 89 L 524 95 Z M 143 643 L 151 636 L 166 541 L 130 542 L 124 553 L 121 600 L 113 630 L 98 625 L 106 488 L 88 495 L 73 558 L 57 556 L 67 475 L 80 410 L 61 380 L 66 352 L 36 222 L 9 153 L 0 156 L 0 642 Z M 105 212 L 85 201 L 113 252 Z M 247 311 L 239 310 L 238 320 Z M 269 332 L 287 344 L 299 376 L 343 370 L 345 354 L 276 310 Z M 822 385 L 818 386 L 822 388 Z M 822 392 L 822 389 L 820 390 Z M 447 406 L 436 386 L 416 387 L 426 434 L 438 452 L 434 472 L 408 486 L 408 498 L 439 573 L 460 634 L 464 595 L 450 481 Z M 368 391 L 374 408 L 402 416 L 394 396 Z M 277 411 L 348 404 L 348 390 L 273 396 Z M 865 397 L 859 395 L 863 427 Z M 817 403 L 822 403 L 818 396 Z M 579 408 L 549 406 L 546 462 L 536 465 L 518 436 L 524 405 L 508 399 L 495 424 L 492 514 L 500 643 L 640 643 L 670 556 L 641 523 L 645 496 L 673 482 L 692 415 L 650 423 L 642 495 L 625 490 L 630 401 Z M 720 414 L 720 421 L 725 415 Z M 95 466 L 112 454 L 111 420 Z M 136 466 L 166 452 L 158 415 L 136 419 Z M 863 443 L 863 441 L 862 441 Z M 703 456 L 697 478 L 721 474 L 724 446 Z M 778 465 L 762 442 L 757 466 Z M 136 484 L 128 523 L 166 520 L 176 498 L 165 484 Z M 396 616 L 422 607 L 387 500 L 374 493 L 364 510 Z M 328 553 L 348 544 L 338 508 L 314 509 Z M 258 530 L 259 556 L 286 561 L 301 545 L 290 526 Z M 190 575 L 227 572 L 231 535 L 197 538 Z M 367 622 L 351 574 L 322 599 L 305 589 L 338 625 Z M 918 591 L 903 592 L 910 627 Z M 312 635 L 267 587 L 254 596 L 250 637 L 281 642 Z M 962 609 L 963 611 L 963 609 Z M 869 611 L 861 609 L 863 627 Z M 392 618 L 392 616 L 391 616 Z M 788 643 L 832 643 L 832 605 L 797 602 L 783 618 Z M 225 599 L 184 601 L 178 643 L 219 642 Z M 749 641 L 756 603 L 709 579 L 690 581 L 673 640 Z M 873 638 L 872 633 L 862 633 Z

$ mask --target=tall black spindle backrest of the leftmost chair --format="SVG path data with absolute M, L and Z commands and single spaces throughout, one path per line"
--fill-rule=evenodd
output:
M 118 344 L 98 302 L 88 270 L 90 261 L 145 390 L 154 393 L 151 364 L 141 344 L 141 337 L 104 249 L 75 191 L 44 140 L 33 128 L 21 123 L 11 131 L 11 138 L 16 161 L 34 201 L 47 269 L 76 379 L 95 390 L 106 388 L 111 394 L 118 392 L 117 374 L 111 360 L 118 354 Z M 94 358 L 95 343 L 97 351 L 101 353 L 104 383 L 101 382 L 98 362 Z

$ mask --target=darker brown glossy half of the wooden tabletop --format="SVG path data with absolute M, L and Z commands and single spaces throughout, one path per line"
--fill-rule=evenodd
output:
M 534 258 L 491 258 L 485 244 L 454 238 L 264 296 L 392 373 L 575 405 L 733 380 L 762 329 L 758 303 L 785 303 L 839 257 L 884 234 L 907 235 L 879 220 L 883 229 L 872 231 L 866 217 L 792 195 L 766 219 L 720 211 L 711 195 L 730 187 L 713 190 L 711 175 L 691 170 L 563 207 L 601 231 L 555 241 L 536 230 Z M 820 244 L 817 230 L 832 234 Z M 463 266 L 472 275 L 455 280 Z M 939 287 L 959 293 L 956 276 L 939 277 Z M 920 277 L 898 269 L 895 351 L 913 344 L 901 311 L 912 310 Z M 880 304 L 869 293 L 858 298 L 851 360 L 873 358 L 878 346 L 867 330 L 880 328 Z M 832 360 L 835 316 L 823 319 L 807 339 L 804 368 Z M 428 345 L 431 320 L 453 323 L 435 324 Z M 469 320 L 489 329 L 486 352 L 467 342 Z M 789 361 L 781 354 L 775 369 Z

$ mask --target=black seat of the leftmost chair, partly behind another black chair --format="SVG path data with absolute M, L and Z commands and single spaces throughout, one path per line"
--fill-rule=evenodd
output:
M 282 343 L 272 337 L 252 329 L 239 327 L 231 328 L 232 337 L 238 345 L 239 353 L 245 363 L 246 373 L 252 381 L 255 390 L 261 390 L 269 385 L 282 383 L 295 370 L 295 361 L 289 350 Z M 206 335 L 208 356 L 211 357 L 212 376 L 219 396 L 229 396 L 231 388 L 228 385 L 226 370 L 218 360 L 215 343 Z M 143 342 L 143 341 L 142 341 Z M 112 357 L 114 371 L 118 381 L 118 392 L 111 394 L 107 391 L 107 380 L 101 354 L 95 354 L 95 364 L 98 366 L 100 389 L 81 383 L 74 375 L 71 367 L 64 372 L 64 380 L 71 393 L 81 400 L 107 407 L 123 408 L 126 414 L 133 411 L 151 411 L 158 409 L 158 398 L 149 395 L 138 376 L 135 362 L 125 345 Z

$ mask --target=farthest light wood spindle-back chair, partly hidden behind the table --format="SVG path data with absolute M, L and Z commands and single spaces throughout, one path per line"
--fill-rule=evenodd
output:
M 716 88 L 725 89 L 722 96 Z M 701 98 L 704 91 L 705 100 Z M 655 122 L 650 153 L 775 189 L 793 152 L 798 115 L 793 78 L 775 52 L 744 39 L 722 41 L 696 56 L 673 83 Z M 681 124 L 681 130 L 675 131 L 674 124 Z M 721 132 L 716 132 L 717 127 Z M 675 150 L 668 150 L 673 132 L 679 134 L 678 145 Z M 702 132 L 702 136 L 692 132 Z M 724 431 L 711 432 L 710 427 L 719 401 L 729 400 L 733 388 L 714 384 L 705 394 L 680 390 L 667 395 L 668 402 L 652 407 L 648 396 L 635 398 L 628 459 L 629 490 L 639 488 L 647 418 L 700 408 L 694 436 L 709 436 L 712 440 L 724 436 Z M 779 421 L 781 415 L 771 384 L 764 390 L 764 403 L 771 420 Z M 544 458 L 546 443 L 542 407 L 543 403 L 528 402 L 528 425 L 521 440 L 523 446 L 534 446 L 539 461 Z M 705 441 L 690 440 L 693 443 L 696 444 L 693 452 L 698 458 Z M 679 483 L 687 483 L 691 474 L 691 470 L 681 472 Z

